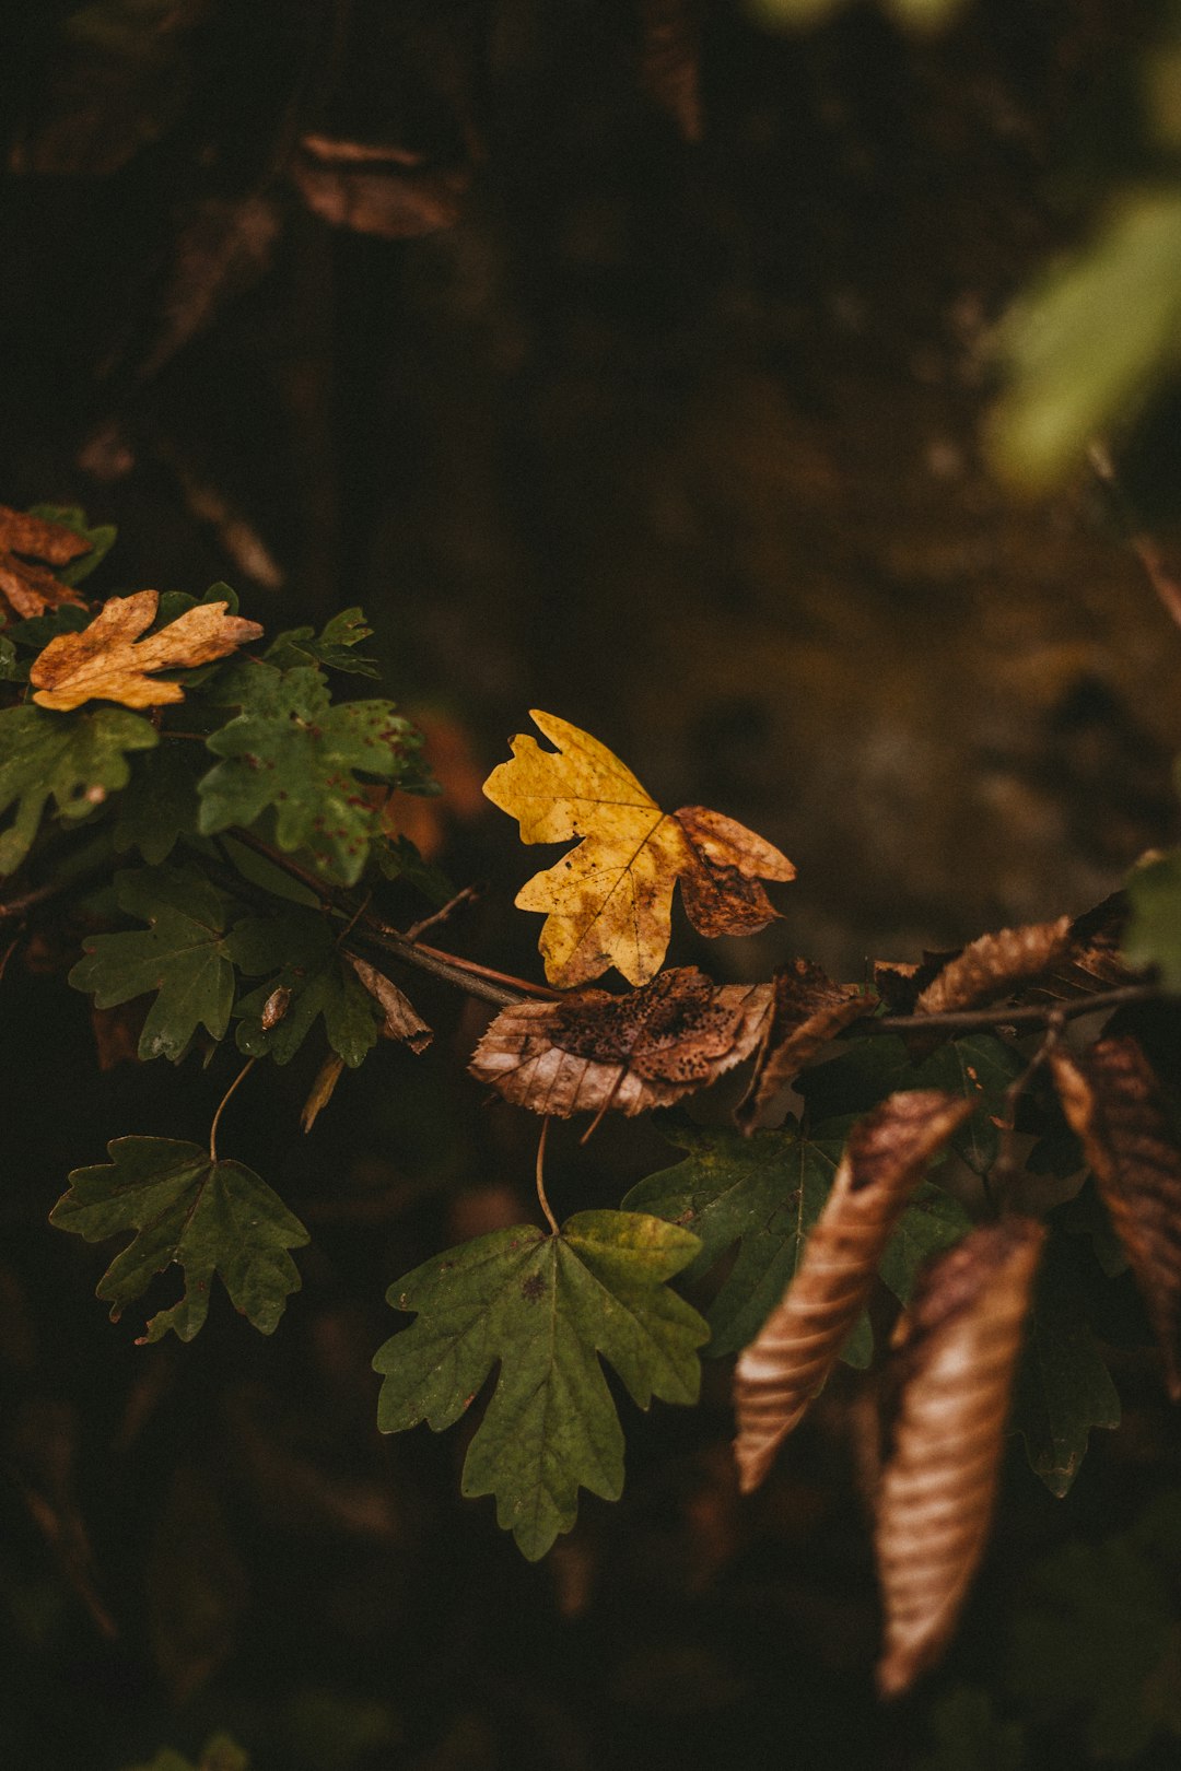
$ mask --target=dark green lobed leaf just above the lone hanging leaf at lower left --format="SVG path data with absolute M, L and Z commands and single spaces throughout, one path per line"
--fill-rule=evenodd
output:
M 179 1061 L 202 1025 L 220 1040 L 234 1004 L 223 894 L 195 868 L 117 873 L 115 893 L 120 907 L 149 928 L 92 935 L 83 942 L 87 956 L 69 974 L 71 985 L 90 992 L 97 1008 L 156 992 L 140 1036 L 143 1059 Z

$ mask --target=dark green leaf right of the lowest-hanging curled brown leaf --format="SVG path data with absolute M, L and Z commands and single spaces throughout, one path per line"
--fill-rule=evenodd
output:
M 1052 1236 L 1025 1325 L 1009 1429 L 1052 1495 L 1078 1475 L 1092 1427 L 1119 1426 L 1119 1396 L 1094 1344 L 1085 1286 L 1068 1236 Z

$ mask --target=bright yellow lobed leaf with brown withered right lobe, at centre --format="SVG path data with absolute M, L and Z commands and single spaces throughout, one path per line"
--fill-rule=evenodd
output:
M 751 935 L 772 921 L 758 880 L 795 878 L 777 848 L 705 806 L 660 811 L 606 744 L 554 714 L 531 719 L 558 749 L 515 737 L 483 792 L 519 820 L 522 843 L 581 838 L 517 893 L 521 910 L 547 912 L 538 946 L 552 985 L 584 985 L 609 965 L 648 983 L 668 949 L 676 880 L 701 935 Z

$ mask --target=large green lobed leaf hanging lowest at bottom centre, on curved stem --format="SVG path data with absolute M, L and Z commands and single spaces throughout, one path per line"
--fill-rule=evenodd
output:
M 535 1562 L 577 1516 L 579 1488 L 618 1500 L 623 1429 L 598 1355 L 632 1399 L 694 1403 L 708 1330 L 666 1280 L 698 1252 L 689 1231 L 634 1211 L 581 1211 L 561 1233 L 494 1231 L 390 1288 L 418 1321 L 379 1350 L 382 1433 L 450 1427 L 494 1362 L 496 1390 L 467 1450 L 464 1495 Z

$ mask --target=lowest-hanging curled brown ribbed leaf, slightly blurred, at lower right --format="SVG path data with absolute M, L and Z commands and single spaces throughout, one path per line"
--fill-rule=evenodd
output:
M 875 1532 L 885 1697 L 938 1659 L 983 1555 L 1043 1241 L 1032 1218 L 974 1229 L 926 1268 L 899 1323 Z

